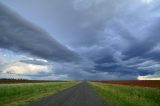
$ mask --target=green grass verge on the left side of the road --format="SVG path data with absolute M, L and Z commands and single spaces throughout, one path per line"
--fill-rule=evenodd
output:
M 23 106 L 76 84 L 77 82 L 1 84 L 0 106 Z

